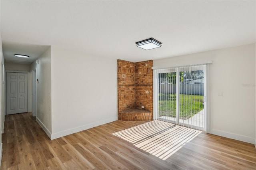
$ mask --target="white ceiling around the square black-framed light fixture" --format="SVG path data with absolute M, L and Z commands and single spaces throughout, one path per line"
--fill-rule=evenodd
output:
M 14 53 L 32 61 L 49 45 L 136 62 L 256 42 L 255 0 L 1 0 L 0 10 L 8 61 L 15 61 Z M 136 47 L 151 37 L 162 47 Z

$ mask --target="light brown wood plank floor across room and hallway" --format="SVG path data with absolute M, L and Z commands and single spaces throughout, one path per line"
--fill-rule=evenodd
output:
M 50 140 L 31 113 L 5 120 L 1 170 L 256 170 L 253 144 L 159 121 L 114 121 Z

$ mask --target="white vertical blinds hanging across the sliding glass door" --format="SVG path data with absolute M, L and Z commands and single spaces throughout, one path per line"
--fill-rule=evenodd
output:
M 206 130 L 206 65 L 154 69 L 154 119 Z

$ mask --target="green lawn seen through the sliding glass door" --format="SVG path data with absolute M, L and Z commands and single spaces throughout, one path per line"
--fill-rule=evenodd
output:
M 203 101 L 203 95 L 180 94 L 180 119 L 189 119 L 204 109 Z M 159 93 L 158 104 L 159 116 L 176 118 L 176 94 Z

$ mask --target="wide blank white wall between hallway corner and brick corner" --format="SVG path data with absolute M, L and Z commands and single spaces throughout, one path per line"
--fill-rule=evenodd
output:
M 52 46 L 52 139 L 117 120 L 117 61 Z

